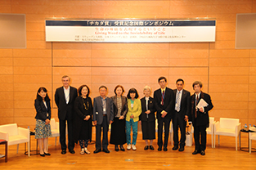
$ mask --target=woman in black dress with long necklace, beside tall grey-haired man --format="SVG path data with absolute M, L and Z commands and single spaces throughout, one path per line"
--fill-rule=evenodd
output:
M 79 87 L 74 101 L 74 141 L 81 146 L 80 154 L 90 154 L 88 141 L 92 141 L 92 99 L 87 85 Z

